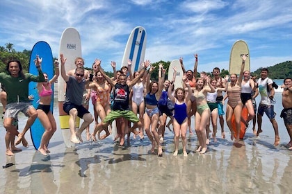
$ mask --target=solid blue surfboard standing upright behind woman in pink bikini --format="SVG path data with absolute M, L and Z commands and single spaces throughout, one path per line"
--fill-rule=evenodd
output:
M 31 51 L 31 59 L 29 60 L 29 73 L 33 75 L 38 75 L 38 69 L 35 68 L 35 60 L 36 55 L 39 55 L 42 58 L 42 72 L 47 73 L 49 80 L 54 76 L 54 63 L 53 63 L 53 55 L 51 53 L 51 47 L 47 42 L 40 41 L 37 42 L 33 46 L 33 50 Z M 33 95 L 34 99 L 32 100 L 33 107 L 38 107 L 38 102 L 40 100 L 38 96 L 38 83 L 30 82 L 29 83 L 29 95 Z M 54 85 L 51 86 L 53 90 L 52 100 L 51 100 L 51 112 L 54 109 Z M 35 119 L 33 125 L 31 125 L 31 140 L 33 141 L 33 146 L 35 150 L 38 150 L 40 147 L 40 140 L 42 139 L 42 134 L 44 133 L 44 127 L 38 118 Z

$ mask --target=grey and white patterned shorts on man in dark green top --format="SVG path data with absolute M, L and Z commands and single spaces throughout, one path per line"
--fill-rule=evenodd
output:
M 31 103 L 10 103 L 6 105 L 6 112 L 4 114 L 4 118 L 14 118 L 17 120 L 17 115 L 19 112 L 22 112 L 25 116 L 29 116 L 27 111 L 31 108 L 34 108 Z

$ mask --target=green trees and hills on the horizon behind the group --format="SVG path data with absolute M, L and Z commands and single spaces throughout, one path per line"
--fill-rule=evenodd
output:
M 5 46 L 0 46 L 0 72 L 6 71 L 6 64 L 9 60 L 19 60 L 22 63 L 22 67 L 24 69 L 24 72 L 29 71 L 29 59 L 31 56 L 31 51 L 24 50 L 22 52 L 15 51 L 13 48 L 14 45 L 12 43 L 6 43 Z M 55 60 L 56 58 L 54 58 Z M 163 67 L 165 67 L 165 78 L 168 78 L 168 69 L 170 67 L 170 62 L 154 62 L 152 63 L 152 66 L 156 67 L 151 75 L 151 78 L 153 80 L 158 79 L 158 70 L 159 70 L 159 63 L 163 63 Z M 284 78 L 291 78 L 292 77 L 292 61 L 286 61 L 279 64 L 275 64 L 272 67 L 268 67 L 269 71 L 269 78 L 272 79 L 284 79 Z M 88 70 L 92 70 L 90 68 L 87 68 Z M 209 75 L 211 75 L 210 72 L 207 72 Z M 106 74 L 110 77 L 113 76 L 113 72 L 106 72 Z M 229 74 L 228 70 L 222 69 L 220 76 L 224 78 L 225 75 Z M 261 68 L 257 69 L 257 71 L 254 71 L 251 73 L 252 75 L 257 75 L 258 77 L 261 74 Z M 198 76 L 200 74 L 198 73 Z

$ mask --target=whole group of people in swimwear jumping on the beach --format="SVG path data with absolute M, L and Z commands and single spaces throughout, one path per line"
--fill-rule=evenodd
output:
M 166 69 L 163 64 L 159 64 L 158 81 L 152 80 L 151 73 L 156 67 L 151 66 L 149 60 L 141 64 L 140 71 L 131 72 L 131 60 L 127 66 L 122 67 L 120 71 L 115 68 L 115 62 L 111 62 L 114 76 L 110 78 L 104 73 L 101 67 L 101 60 L 95 60 L 92 64 L 92 72 L 84 69 L 84 60 L 76 58 L 76 69 L 65 69 L 66 58 L 60 54 L 61 76 L 66 82 L 65 102 L 63 110 L 70 115 L 69 127 L 71 132 L 71 141 L 81 143 L 83 139 L 81 134 L 86 130 L 86 139 L 97 141 L 97 138 L 105 139 L 112 132 L 111 123 L 117 122 L 117 135 L 115 140 L 120 140 L 120 145 L 124 145 L 125 136 L 133 132 L 134 138 L 144 138 L 144 132 L 152 142 L 150 152 L 154 153 L 158 148 L 157 155 L 163 155 L 161 143 L 163 143 L 165 127 L 170 129 L 173 126 L 175 152 L 179 152 L 179 139 L 183 145 L 183 155 L 188 155 L 186 150 L 186 134 L 191 129 L 190 117 L 195 116 L 195 132 L 199 141 L 196 152 L 204 154 L 209 144 L 210 125 L 213 132 L 211 138 L 217 141 L 217 120 L 221 127 L 221 136 L 225 139 L 224 118 L 225 112 L 223 105 L 227 100 L 226 123 L 231 132 L 231 139 L 237 143 L 240 139 L 241 122 L 248 127 L 250 121 L 253 121 L 253 132 L 256 136 L 262 132 L 261 123 L 263 113 L 270 119 L 275 130 L 275 143 L 279 145 L 279 132 L 277 121 L 275 121 L 275 112 L 273 109 L 273 80 L 268 78 L 268 69 L 261 70 L 261 78 L 256 82 L 255 78 L 250 76 L 249 71 L 244 71 L 245 60 L 248 55 L 241 55 L 242 64 L 239 75 L 235 73 L 225 78 L 220 77 L 220 69 L 213 69 L 213 76 L 208 76 L 205 72 L 200 73 L 197 78 L 198 56 L 195 56 L 194 69 L 186 71 L 182 58 L 180 59 L 184 76 L 181 80 L 183 87 L 174 85 L 177 69 L 174 68 L 172 80 L 165 80 Z M 38 150 L 42 155 L 49 152 L 47 145 L 51 136 L 56 131 L 56 121 L 50 111 L 51 103 L 51 85 L 54 84 L 59 76 L 59 63 L 55 64 L 55 75 L 49 80 L 46 73 L 41 70 L 42 58 L 37 55 L 35 58 L 35 67 L 38 69 L 38 76 L 31 73 L 23 73 L 22 65 L 17 60 L 9 61 L 6 72 L 0 73 L 0 82 L 2 87 L 1 103 L 3 104 L 3 126 L 6 128 L 6 155 L 14 155 L 13 152 L 19 151 L 15 145 L 22 142 L 24 146 L 28 143 L 24 137 L 29 127 L 39 118 L 45 132 L 42 136 L 40 148 Z M 148 68 L 149 67 L 149 68 Z M 148 71 L 147 71 L 148 69 Z M 40 102 L 38 107 L 33 107 L 30 103 L 29 82 L 38 82 L 38 95 Z M 282 94 L 282 105 L 284 107 L 281 117 L 284 118 L 285 126 L 288 130 L 291 141 L 288 143 L 289 150 L 292 150 L 292 80 L 286 78 Z M 223 95 L 225 91 L 225 95 Z M 261 102 L 257 110 L 254 98 L 261 95 Z M 92 99 L 94 115 L 88 111 L 89 99 Z M 248 109 L 248 118 L 243 120 L 241 112 L 243 107 Z M 257 112 L 258 111 L 258 112 Z M 24 130 L 18 132 L 17 115 L 23 112 L 29 116 Z M 258 130 L 255 130 L 256 112 Z M 235 129 L 232 128 L 232 115 L 235 117 Z M 76 118 L 82 118 L 83 123 L 76 130 Z M 170 121 L 167 124 L 167 118 Z M 95 127 L 90 134 L 89 125 L 95 121 Z M 108 128 L 108 126 L 110 126 Z M 138 130 L 136 130 L 138 128 Z M 104 130 L 104 134 L 102 131 Z M 97 138 L 96 138 L 97 135 Z M 15 141 L 15 136 L 17 140 Z

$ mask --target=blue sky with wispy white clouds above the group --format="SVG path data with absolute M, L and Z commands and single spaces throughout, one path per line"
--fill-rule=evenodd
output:
M 197 71 L 229 69 L 232 45 L 239 39 L 250 50 L 250 70 L 292 60 L 292 1 L 290 0 L 22 0 L 0 2 L 0 46 L 31 50 L 38 41 L 58 56 L 67 27 L 81 35 L 86 67 L 95 58 L 112 71 L 121 64 L 131 30 L 147 32 L 145 60 L 184 59 Z

